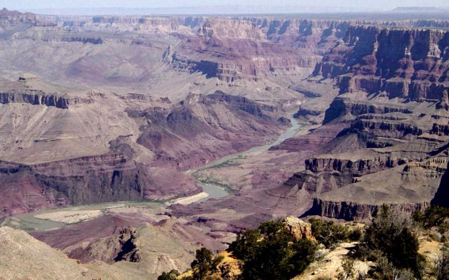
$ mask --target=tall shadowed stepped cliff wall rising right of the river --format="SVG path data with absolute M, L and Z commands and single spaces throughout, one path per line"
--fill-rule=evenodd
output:
M 369 219 L 382 203 L 406 212 L 441 203 L 449 35 L 413 28 L 421 23 L 348 27 L 314 71 L 339 87 L 323 124 L 342 129 L 270 192 L 314 198 L 306 214 L 348 220 Z

